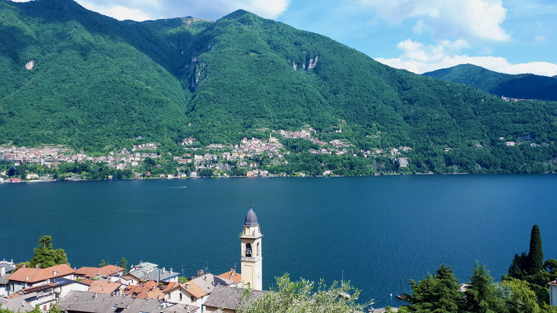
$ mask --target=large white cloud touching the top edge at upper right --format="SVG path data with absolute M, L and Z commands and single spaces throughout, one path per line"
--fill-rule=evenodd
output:
M 391 25 L 419 18 L 434 38 L 511 38 L 501 27 L 507 9 L 500 0 L 360 0 L 360 4 L 375 7 L 377 15 Z M 416 24 L 413 30 L 420 33 L 423 28 Z

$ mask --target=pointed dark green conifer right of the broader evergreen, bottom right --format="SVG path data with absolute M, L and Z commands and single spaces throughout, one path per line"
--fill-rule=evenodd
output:
M 493 277 L 489 275 L 485 265 L 476 265 L 472 270 L 470 287 L 465 291 L 465 310 L 478 313 L 507 312 L 505 302 L 497 295 Z

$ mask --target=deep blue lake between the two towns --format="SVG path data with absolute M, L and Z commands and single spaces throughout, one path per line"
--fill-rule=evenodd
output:
M 185 187 L 185 188 L 178 188 Z M 0 259 L 29 260 L 48 234 L 72 267 L 148 261 L 193 276 L 240 270 L 250 207 L 263 237 L 263 286 L 350 280 L 360 300 L 399 306 L 401 278 L 441 263 L 465 282 L 476 260 L 499 280 L 539 224 L 557 258 L 557 175 L 152 179 L 0 184 Z M 404 291 L 404 290 L 403 290 Z

